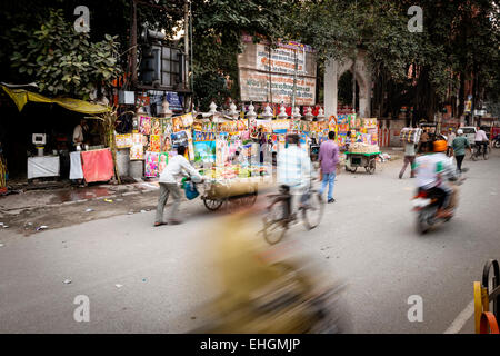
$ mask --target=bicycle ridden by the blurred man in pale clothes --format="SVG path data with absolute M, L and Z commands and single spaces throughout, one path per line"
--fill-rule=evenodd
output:
M 298 221 L 297 212 L 301 212 L 302 221 L 308 230 L 316 228 L 323 216 L 324 200 L 316 189 L 306 191 L 299 211 L 291 211 L 292 196 L 288 186 L 281 186 L 279 194 L 268 195 L 267 197 L 272 201 L 263 218 L 262 234 L 270 245 L 282 240 L 290 226 Z

